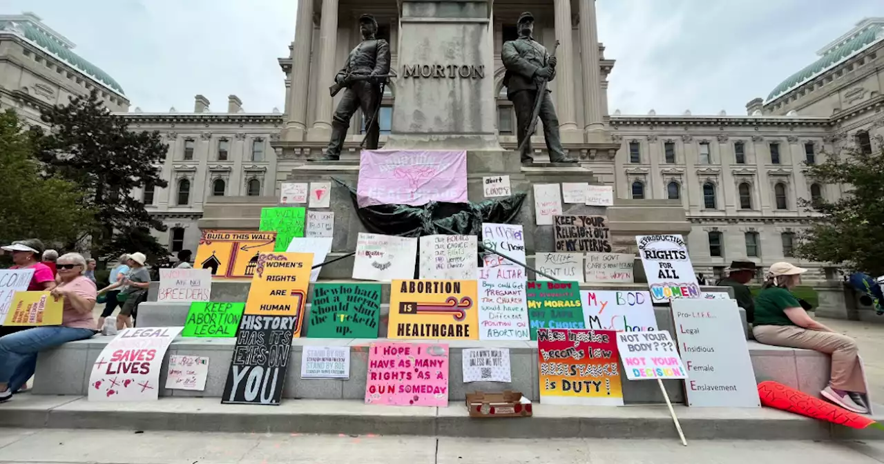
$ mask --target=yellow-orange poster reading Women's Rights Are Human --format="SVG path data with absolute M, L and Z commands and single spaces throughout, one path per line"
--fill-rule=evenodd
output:
M 248 290 L 243 314 L 298 316 L 295 337 L 301 333 L 301 319 L 310 286 L 312 253 L 263 253 L 258 256 L 255 278 Z

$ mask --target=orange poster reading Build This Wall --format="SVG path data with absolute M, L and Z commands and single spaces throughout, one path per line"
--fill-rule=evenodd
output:
M 212 278 L 252 278 L 258 255 L 273 251 L 276 232 L 202 231 L 194 268 L 212 271 Z

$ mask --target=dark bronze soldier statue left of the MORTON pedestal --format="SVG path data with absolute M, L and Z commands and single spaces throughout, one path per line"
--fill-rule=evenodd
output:
M 377 124 L 377 107 L 381 104 L 381 80 L 379 76 L 390 73 L 390 45 L 383 39 L 375 38 L 377 21 L 369 14 L 359 18 L 359 32 L 362 42 L 350 51 L 347 64 L 334 77 L 334 81 L 345 87 L 344 96 L 331 118 L 331 141 L 325 155 L 309 158 L 308 161 L 337 161 L 340 149 L 344 146 L 350 118 L 357 108 L 362 109 L 366 124 L 365 148 L 377 149 L 380 126 Z M 366 79 L 368 78 L 368 79 Z M 307 85 L 306 82 L 301 85 Z

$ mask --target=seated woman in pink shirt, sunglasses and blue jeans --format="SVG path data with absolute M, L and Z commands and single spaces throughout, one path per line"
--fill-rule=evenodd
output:
M 47 348 L 95 335 L 95 284 L 83 277 L 86 260 L 69 253 L 58 258 L 60 283 L 51 295 L 64 300 L 61 325 L 44 325 L 0 337 L 0 403 L 34 376 L 37 354 Z

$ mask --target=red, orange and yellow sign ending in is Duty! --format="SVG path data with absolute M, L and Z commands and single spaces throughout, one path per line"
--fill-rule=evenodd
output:
M 623 406 L 613 331 L 537 330 L 540 402 Z

